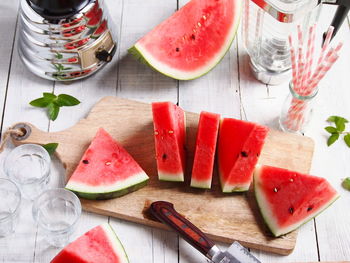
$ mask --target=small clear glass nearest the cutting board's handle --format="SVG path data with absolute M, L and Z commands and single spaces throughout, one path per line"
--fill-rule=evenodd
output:
M 48 187 L 50 164 L 51 158 L 44 147 L 23 144 L 6 157 L 4 170 L 20 187 L 23 197 L 34 200 Z

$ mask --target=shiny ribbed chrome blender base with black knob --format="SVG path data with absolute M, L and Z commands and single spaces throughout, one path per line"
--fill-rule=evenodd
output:
M 18 51 L 34 74 L 56 81 L 87 77 L 116 51 L 103 0 L 21 0 Z

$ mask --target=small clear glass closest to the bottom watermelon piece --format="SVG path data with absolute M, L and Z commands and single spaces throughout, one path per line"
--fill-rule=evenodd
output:
M 34 200 L 32 212 L 46 241 L 52 246 L 64 247 L 76 229 L 81 204 L 71 191 L 63 188 L 49 189 Z

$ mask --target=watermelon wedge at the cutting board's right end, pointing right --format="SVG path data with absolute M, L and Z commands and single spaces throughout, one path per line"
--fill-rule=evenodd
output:
M 254 189 L 261 214 L 276 237 L 314 218 L 339 197 L 324 178 L 271 166 L 257 167 Z

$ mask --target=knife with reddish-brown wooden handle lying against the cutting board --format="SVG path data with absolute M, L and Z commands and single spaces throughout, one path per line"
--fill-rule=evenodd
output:
M 150 212 L 214 263 L 261 263 L 236 241 L 225 252 L 221 251 L 199 228 L 176 212 L 172 203 L 153 202 Z

